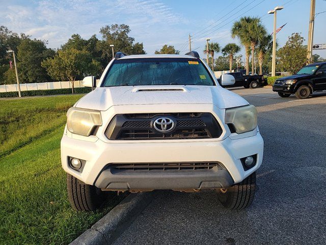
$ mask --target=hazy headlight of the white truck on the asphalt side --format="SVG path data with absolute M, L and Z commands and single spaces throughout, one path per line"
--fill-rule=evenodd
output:
M 257 128 L 257 110 L 253 105 L 226 109 L 225 123 L 233 125 L 237 134 Z

